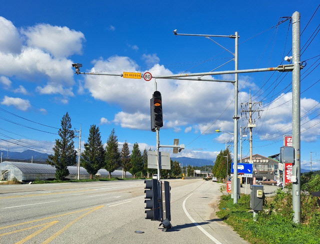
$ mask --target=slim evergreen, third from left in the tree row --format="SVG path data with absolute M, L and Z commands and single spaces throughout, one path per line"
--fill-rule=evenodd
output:
M 109 178 L 111 173 L 120 166 L 120 153 L 118 150 L 118 139 L 115 135 L 114 128 L 112 129 L 105 147 L 105 166 L 104 168 L 109 171 Z

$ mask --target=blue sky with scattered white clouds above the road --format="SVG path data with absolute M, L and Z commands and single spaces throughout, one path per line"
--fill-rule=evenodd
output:
M 0 149 L 51 152 L 60 119 L 68 112 L 72 127 L 81 124 L 82 143 L 89 127 L 100 128 L 106 142 L 112 128 L 121 144 L 155 147 L 150 130 L 154 79 L 76 75 L 81 71 L 149 71 L 152 75 L 233 70 L 234 39 L 174 36 L 178 33 L 230 35 L 238 31 L 239 69 L 275 67 L 291 55 L 291 23 L 277 25 L 294 11 L 301 15 L 301 167 L 320 169 L 318 91 L 320 10 L 316 1 L 1 1 L 0 9 Z M 314 15 L 313 15 L 314 13 Z M 313 15 L 313 16 L 312 16 Z M 229 61 L 229 62 L 228 62 Z M 233 79 L 217 75 L 215 79 Z M 185 150 L 171 156 L 215 160 L 232 136 L 233 85 L 221 82 L 157 79 L 164 125 L 160 144 L 174 138 Z M 262 102 L 255 113 L 253 154 L 279 152 L 283 134 L 291 133 L 291 73 L 239 74 L 240 103 Z M 245 114 L 239 120 L 247 124 Z M 239 123 L 240 124 L 240 123 Z M 75 139 L 78 145 L 78 139 Z M 249 155 L 249 143 L 242 144 Z M 231 146 L 232 148 L 232 146 Z M 165 149 L 171 151 L 171 149 Z M 238 149 L 238 152 L 240 150 Z

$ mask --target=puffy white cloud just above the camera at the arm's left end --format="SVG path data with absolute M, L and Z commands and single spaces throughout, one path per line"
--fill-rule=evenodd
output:
M 81 54 L 82 41 L 85 40 L 82 32 L 66 26 L 37 24 L 21 32 L 27 36 L 28 46 L 43 49 L 55 57 Z

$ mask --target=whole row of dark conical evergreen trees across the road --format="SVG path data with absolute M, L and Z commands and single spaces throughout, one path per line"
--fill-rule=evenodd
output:
M 76 164 L 77 155 L 73 142 L 74 130 L 71 129 L 71 119 L 67 112 L 61 119 L 58 135 L 60 138 L 55 139 L 54 153 L 48 156 L 47 163 L 55 166 L 55 177 L 63 179 L 69 174 L 67 166 Z M 141 153 L 137 142 L 133 144 L 131 153 L 126 141 L 121 149 L 118 148 L 114 128 L 106 141 L 106 147 L 103 148 L 99 127 L 95 124 L 90 126 L 88 140 L 84 143 L 84 151 L 81 153 L 80 165 L 87 170 L 90 178 L 100 168 L 105 168 L 109 172 L 109 178 L 118 167 L 122 167 L 124 177 L 127 171 L 132 173 L 133 177 L 138 174 L 143 177 L 148 173 L 156 173 L 156 169 L 147 168 L 147 150 L 144 148 Z M 180 172 L 179 162 L 171 160 L 171 170 L 161 170 L 161 175 L 170 173 L 171 176 L 179 176 Z

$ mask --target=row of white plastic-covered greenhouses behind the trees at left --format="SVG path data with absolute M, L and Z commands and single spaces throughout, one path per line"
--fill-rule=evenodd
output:
M 76 166 L 68 166 L 69 175 L 66 176 L 68 179 L 76 179 Z M 96 173 L 101 178 L 106 178 L 109 172 L 103 168 L 99 169 Z M 114 170 L 111 173 L 113 177 L 121 177 L 122 170 Z M 126 173 L 127 177 L 132 177 L 131 173 Z M 29 162 L 9 162 L 3 161 L 0 163 L 0 180 L 12 180 L 16 178 L 19 181 L 31 181 L 41 179 L 53 179 L 55 178 L 55 167 L 48 164 L 38 164 Z M 79 178 L 89 179 L 90 174 L 85 168 L 79 168 Z

